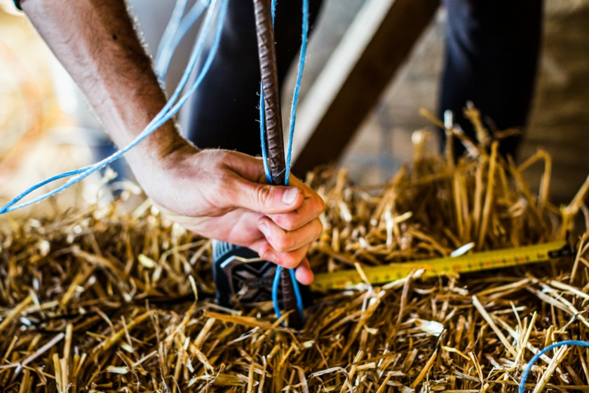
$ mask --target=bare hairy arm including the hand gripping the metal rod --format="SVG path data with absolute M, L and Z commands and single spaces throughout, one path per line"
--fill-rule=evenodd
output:
M 123 0 L 23 0 L 21 6 L 94 107 L 111 138 L 128 145 L 165 105 L 151 61 Z M 187 229 L 248 246 L 262 258 L 297 267 L 319 237 L 323 201 L 302 182 L 265 185 L 260 159 L 200 151 L 169 121 L 127 154 L 154 203 Z

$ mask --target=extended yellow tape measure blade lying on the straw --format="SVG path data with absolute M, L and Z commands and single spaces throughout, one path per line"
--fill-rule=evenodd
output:
M 564 258 L 574 255 L 573 249 L 566 241 L 504 248 L 502 250 L 483 251 L 459 257 L 435 258 L 412 262 L 391 263 L 389 265 L 363 267 L 370 284 L 381 284 L 402 279 L 414 269 L 425 269 L 423 277 L 477 272 L 499 267 L 525 265 L 527 263 Z M 340 272 L 316 274 L 312 288 L 341 289 L 363 282 L 355 269 Z

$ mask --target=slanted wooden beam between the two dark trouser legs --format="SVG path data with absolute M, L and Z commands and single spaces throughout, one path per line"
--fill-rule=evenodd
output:
M 339 158 L 439 4 L 367 0 L 299 108 L 293 173 Z

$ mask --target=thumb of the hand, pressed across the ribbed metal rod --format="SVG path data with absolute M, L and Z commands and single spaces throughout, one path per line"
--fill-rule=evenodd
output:
M 305 199 L 299 187 L 242 183 L 239 206 L 264 215 L 281 214 L 299 208 Z

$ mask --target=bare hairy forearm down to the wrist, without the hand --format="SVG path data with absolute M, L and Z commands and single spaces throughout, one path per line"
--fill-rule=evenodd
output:
M 23 0 L 21 6 L 86 94 L 119 146 L 133 140 L 165 105 L 149 56 L 122 0 Z M 187 142 L 172 121 L 130 153 L 161 159 Z

